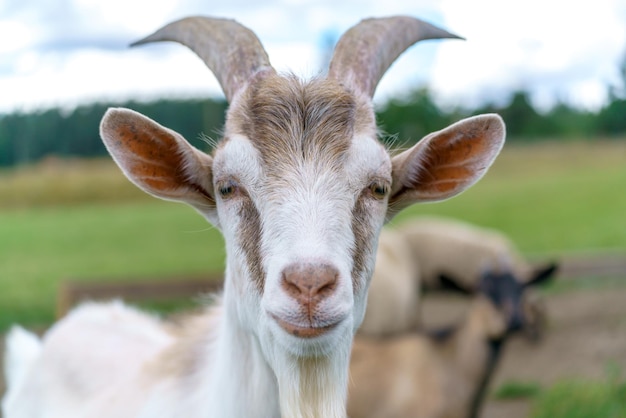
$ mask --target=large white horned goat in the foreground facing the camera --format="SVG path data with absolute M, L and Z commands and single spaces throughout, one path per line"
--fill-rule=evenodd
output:
M 130 181 L 222 232 L 223 295 L 180 335 L 120 304 L 79 307 L 44 336 L 5 416 L 345 417 L 385 219 L 467 189 L 504 143 L 497 115 L 393 157 L 378 141 L 378 81 L 409 46 L 436 38 L 455 36 L 410 17 L 364 20 L 309 81 L 278 74 L 233 20 L 185 18 L 135 43 L 188 46 L 230 103 L 211 155 L 132 110 L 109 109 L 100 126 Z

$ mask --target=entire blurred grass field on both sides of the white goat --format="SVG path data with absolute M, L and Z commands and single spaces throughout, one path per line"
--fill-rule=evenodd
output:
M 441 214 L 509 234 L 528 254 L 626 249 L 626 140 L 507 145 L 478 185 L 392 222 Z M 219 232 L 144 196 L 109 160 L 0 172 L 0 331 L 53 319 L 66 279 L 201 275 L 223 269 Z

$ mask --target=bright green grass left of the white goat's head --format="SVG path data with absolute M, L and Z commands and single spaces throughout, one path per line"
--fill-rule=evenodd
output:
M 218 231 L 194 210 L 150 201 L 0 212 L 0 329 L 53 319 L 66 279 L 120 280 L 221 272 Z

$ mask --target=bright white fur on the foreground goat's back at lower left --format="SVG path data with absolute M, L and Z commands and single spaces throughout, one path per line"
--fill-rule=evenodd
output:
M 88 404 L 84 399 L 93 398 L 91 405 L 103 411 L 114 408 L 117 404 L 109 392 L 119 391 L 120 383 L 133 379 L 143 362 L 171 341 L 156 318 L 120 302 L 83 305 L 44 335 L 40 353 L 22 384 L 9 387 L 14 392 L 6 398 L 4 415 L 106 416 L 95 410 L 94 415 L 85 415 Z

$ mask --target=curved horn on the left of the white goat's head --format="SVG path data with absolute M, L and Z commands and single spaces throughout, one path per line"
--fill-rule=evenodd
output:
M 229 102 L 250 77 L 264 68 L 272 68 L 259 38 L 230 19 L 187 17 L 131 46 L 160 41 L 181 43 L 202 58 L 217 77 Z

